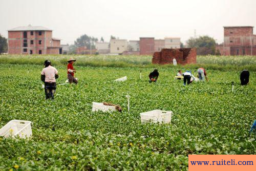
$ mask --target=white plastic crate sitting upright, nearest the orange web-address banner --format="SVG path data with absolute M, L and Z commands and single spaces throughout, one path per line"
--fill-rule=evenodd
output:
M 149 112 L 140 113 L 141 122 L 153 123 L 170 123 L 172 119 L 172 111 L 154 110 Z

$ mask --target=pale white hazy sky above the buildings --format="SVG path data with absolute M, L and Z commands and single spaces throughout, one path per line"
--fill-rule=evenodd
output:
M 256 27 L 256 0 L 0 0 L 0 34 L 29 24 L 52 29 L 61 44 L 73 44 L 82 34 L 105 41 L 114 35 L 185 42 L 194 30 L 220 43 L 223 26 Z

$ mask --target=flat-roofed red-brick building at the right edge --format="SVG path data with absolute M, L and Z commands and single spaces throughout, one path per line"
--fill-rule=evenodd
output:
M 256 35 L 253 27 L 224 27 L 222 55 L 256 55 Z

